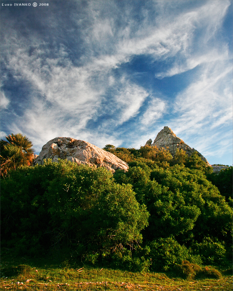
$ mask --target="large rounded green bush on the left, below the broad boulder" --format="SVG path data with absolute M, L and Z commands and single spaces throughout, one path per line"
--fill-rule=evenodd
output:
M 130 185 L 111 178 L 105 168 L 67 161 L 19 168 L 2 183 L 3 240 L 32 255 L 68 248 L 92 263 L 123 246 L 133 249 L 148 212 Z

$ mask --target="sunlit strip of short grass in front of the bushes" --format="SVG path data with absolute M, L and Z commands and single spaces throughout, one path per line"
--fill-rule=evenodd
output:
M 173 272 L 133 273 L 69 265 L 67 261 L 15 258 L 5 252 L 1 255 L 0 284 L 1 290 L 232 290 L 232 268 L 205 266 L 202 270 L 196 277 L 182 278 Z

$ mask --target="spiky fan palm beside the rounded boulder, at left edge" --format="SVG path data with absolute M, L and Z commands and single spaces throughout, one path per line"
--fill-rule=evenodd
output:
M 30 166 L 34 160 L 34 149 L 32 142 L 21 133 L 6 136 L 1 140 L 1 176 L 6 176 L 9 170 L 17 167 Z

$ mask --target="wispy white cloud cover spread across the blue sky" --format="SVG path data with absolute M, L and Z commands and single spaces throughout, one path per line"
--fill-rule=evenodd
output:
M 93 143 L 96 140 L 101 146 L 118 145 L 125 137 L 114 132 L 114 128 L 123 128 L 132 118 L 139 122 L 138 132 L 132 133 L 134 146 L 138 144 L 136 139 L 146 137 L 146 127 L 155 126 L 155 121 L 156 128 L 148 130 L 148 138 L 163 128 L 159 128 L 158 122 L 163 122 L 165 112 L 176 115 L 172 120 L 171 116 L 164 120 L 165 125 L 169 123 L 177 133 L 186 132 L 187 137 L 205 127 L 216 130 L 229 125 L 232 120 L 231 56 L 223 42 L 219 45 L 216 41 L 213 46 L 213 41 L 230 1 L 199 2 L 193 9 L 188 5 L 184 9 L 180 3 L 183 2 L 143 2 L 144 8 L 138 15 L 131 4 L 122 3 L 126 5 L 123 10 L 119 3 L 111 1 L 88 2 L 81 14 L 72 11 L 70 17 L 76 26 L 70 28 L 69 37 L 79 33 L 80 51 L 83 49 L 76 63 L 71 61 L 69 53 L 72 50 L 79 53 L 77 47 L 53 44 L 51 49 L 39 33 L 28 37 L 16 33 L 12 20 L 2 45 L 3 61 L 16 80 L 30 84 L 31 91 L 27 96 L 30 105 L 14 123 L 9 123 L 9 128 L 15 132 L 23 129 L 24 134 L 36 140 L 37 149 L 41 149 L 45 142 L 59 135 Z M 183 8 L 179 9 L 179 5 Z M 48 19 L 44 21 L 48 25 Z M 52 15 L 48 28 L 59 31 L 59 21 Z M 53 39 L 62 42 L 59 34 Z M 72 40 L 75 43 L 75 37 Z M 30 56 L 29 46 L 34 46 Z M 150 55 L 154 61 L 172 62 L 168 69 L 158 72 L 156 77 L 160 79 L 197 66 L 201 73 L 194 76 L 193 83 L 177 95 L 175 102 L 169 103 L 169 96 L 163 100 L 121 71 L 122 64 L 141 54 Z M 148 96 L 155 97 L 145 111 L 143 106 Z M 5 95 L 1 98 L 2 104 L 3 108 L 9 105 Z M 108 119 L 103 118 L 97 129 L 88 127 L 90 121 L 106 114 Z M 111 134 L 110 128 L 113 128 Z M 203 132 L 206 135 L 207 130 Z

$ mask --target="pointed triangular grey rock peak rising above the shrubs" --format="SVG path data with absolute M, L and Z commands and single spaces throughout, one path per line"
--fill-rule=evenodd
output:
M 168 126 L 164 126 L 164 128 L 156 136 L 153 143 L 152 143 L 152 140 L 149 139 L 146 142 L 146 145 L 157 146 L 158 148 L 168 149 L 170 153 L 172 154 L 172 156 L 175 155 L 177 149 L 179 150 L 182 149 L 186 151 L 186 153 L 189 156 L 191 156 L 194 152 L 197 152 L 198 156 L 200 156 L 203 161 L 205 161 L 208 165 L 210 165 L 208 161 L 206 160 L 206 158 L 202 156 L 201 153 L 199 153 L 199 151 L 187 145 L 184 142 L 184 140 L 176 136 L 174 132 Z

